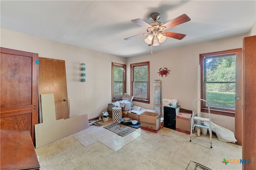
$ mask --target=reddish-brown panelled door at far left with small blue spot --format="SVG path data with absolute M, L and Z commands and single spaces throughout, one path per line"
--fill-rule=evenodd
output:
M 38 124 L 38 54 L 1 47 L 1 129 L 28 130 L 35 144 Z

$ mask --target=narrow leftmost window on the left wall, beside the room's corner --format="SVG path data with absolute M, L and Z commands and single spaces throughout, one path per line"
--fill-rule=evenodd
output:
M 126 65 L 112 63 L 112 102 L 122 100 L 126 92 Z

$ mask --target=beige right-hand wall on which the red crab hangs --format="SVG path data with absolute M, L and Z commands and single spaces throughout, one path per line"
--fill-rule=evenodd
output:
M 140 55 L 127 59 L 127 65 L 142 61 L 150 61 L 150 104 L 134 102 L 134 105 L 154 109 L 154 80 L 162 80 L 162 99 L 177 98 L 181 108 L 192 110 L 193 101 L 197 99 L 197 77 L 199 54 L 227 49 L 242 48 L 246 35 L 224 38 L 211 42 L 198 43 L 184 47 L 169 49 L 148 55 Z M 178 41 L 178 40 L 177 40 Z M 161 45 L 161 44 L 160 44 Z M 153 51 L 154 51 L 153 47 Z M 151 48 L 149 47 L 149 51 Z M 167 67 L 170 75 L 161 77 L 157 73 L 161 67 Z M 130 70 L 127 70 L 130 77 Z M 130 80 L 127 82 L 130 92 Z M 162 108 L 163 114 L 163 108 Z M 203 114 L 204 115 L 204 114 Z M 212 122 L 234 132 L 234 117 L 212 114 Z

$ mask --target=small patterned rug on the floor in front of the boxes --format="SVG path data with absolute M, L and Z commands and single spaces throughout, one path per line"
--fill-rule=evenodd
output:
M 111 132 L 114 132 L 116 134 L 118 134 L 119 136 L 126 136 L 127 134 L 135 131 L 134 128 L 128 127 L 126 125 L 122 125 L 120 123 L 112 123 L 111 125 L 108 125 L 106 127 L 104 127 L 108 130 L 110 130 Z

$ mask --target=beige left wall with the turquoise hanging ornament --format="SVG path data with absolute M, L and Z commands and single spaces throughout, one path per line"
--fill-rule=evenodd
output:
M 88 114 L 88 119 L 107 111 L 111 102 L 111 64 L 126 58 L 46 40 L 1 28 L 1 47 L 38 53 L 39 57 L 65 60 L 70 117 Z M 80 62 L 86 63 L 86 82 L 80 82 Z M 39 63 L 40 64 L 40 63 Z

